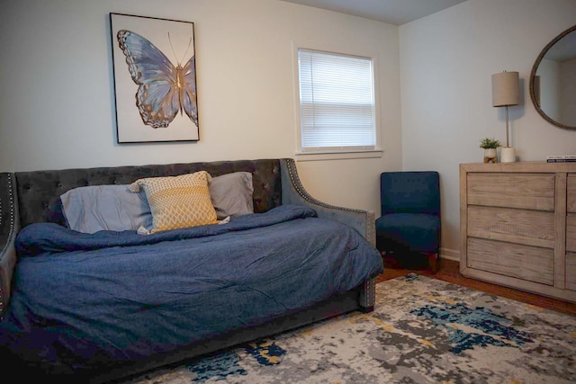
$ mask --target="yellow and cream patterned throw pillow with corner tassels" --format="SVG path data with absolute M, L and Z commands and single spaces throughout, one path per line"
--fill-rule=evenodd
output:
M 148 177 L 130 184 L 131 192 L 146 192 L 152 212 L 151 233 L 167 229 L 218 224 L 206 171 L 180 176 Z

